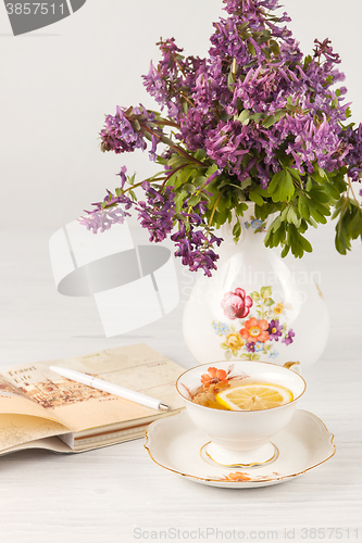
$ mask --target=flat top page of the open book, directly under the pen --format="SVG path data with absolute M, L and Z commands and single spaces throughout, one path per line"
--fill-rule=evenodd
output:
M 170 405 L 171 409 L 184 406 L 175 381 L 185 369 L 146 344 L 35 363 L 23 375 L 21 366 L 2 370 L 2 375 L 22 394 L 74 432 L 152 417 L 160 412 L 60 377 L 49 369 L 50 365 L 89 374 L 142 392 Z

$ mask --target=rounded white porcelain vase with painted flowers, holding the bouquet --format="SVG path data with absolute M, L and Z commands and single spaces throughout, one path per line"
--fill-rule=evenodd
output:
M 185 341 L 199 364 L 299 361 L 303 371 L 326 345 L 329 319 L 319 273 L 265 248 L 266 227 L 254 218 L 252 203 L 238 243 L 233 224 L 222 227 L 217 270 L 197 279 L 184 312 Z

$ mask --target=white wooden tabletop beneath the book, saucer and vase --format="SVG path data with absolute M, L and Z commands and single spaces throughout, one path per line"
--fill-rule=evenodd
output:
M 195 364 L 182 336 L 183 303 L 153 325 L 105 339 L 91 299 L 55 291 L 51 233 L 0 233 L 0 367 L 137 342 Z M 357 244 L 339 256 L 329 226 L 313 245 L 305 262 L 321 272 L 332 327 L 322 358 L 304 374 L 299 406 L 335 433 L 330 460 L 284 484 L 241 491 L 161 469 L 142 439 L 76 455 L 16 453 L 0 458 L 0 542 L 241 541 L 242 533 L 251 541 L 362 540 L 362 255 Z

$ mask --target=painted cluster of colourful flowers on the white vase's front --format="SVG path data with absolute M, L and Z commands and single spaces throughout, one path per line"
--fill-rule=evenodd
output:
M 294 341 L 295 332 L 288 327 L 284 316 L 291 310 L 290 304 L 272 299 L 272 287 L 262 287 L 260 292 L 247 295 L 244 289 L 226 292 L 221 302 L 225 316 L 236 324 L 212 321 L 217 336 L 223 337 L 221 348 L 225 358 L 237 356 L 241 359 L 258 361 L 261 354 L 276 358 L 276 342 L 286 346 Z

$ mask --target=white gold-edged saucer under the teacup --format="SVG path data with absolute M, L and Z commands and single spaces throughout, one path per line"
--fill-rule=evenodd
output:
M 185 411 L 152 422 L 146 439 L 145 449 L 162 468 L 201 484 L 230 489 L 288 481 L 320 466 L 336 452 L 334 434 L 320 418 L 302 409 L 296 411 L 289 425 L 274 435 L 273 445 L 278 451 L 274 460 L 242 471 L 216 464 L 204 454 L 210 439 L 192 425 Z

